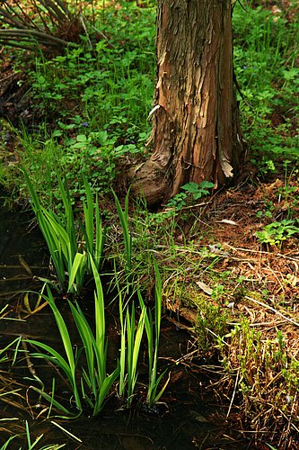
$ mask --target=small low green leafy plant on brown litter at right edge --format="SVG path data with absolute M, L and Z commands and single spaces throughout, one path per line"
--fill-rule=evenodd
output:
M 255 236 L 261 244 L 277 245 L 299 233 L 295 220 L 281 220 L 269 223 L 262 231 L 256 231 Z

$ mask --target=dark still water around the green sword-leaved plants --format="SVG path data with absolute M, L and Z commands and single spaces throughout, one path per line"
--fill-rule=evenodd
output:
M 2 318 L 0 315 L 0 348 L 20 334 L 43 339 L 51 346 L 59 343 L 55 320 L 48 308 L 32 316 L 24 308 L 22 290 L 38 291 L 40 284 L 36 276 L 48 274 L 47 250 L 39 231 L 29 232 L 30 224 L 26 215 L 0 207 L 0 311 L 7 305 Z M 9 320 L 12 318 L 19 320 Z M 38 449 L 46 444 L 66 444 L 64 448 L 71 450 L 255 448 L 225 420 L 228 405 L 215 405 L 208 389 L 215 382 L 215 374 L 212 370 L 200 370 L 202 362 L 188 356 L 195 348 L 192 340 L 184 330 L 163 320 L 160 364 L 171 370 L 163 402 L 155 411 L 144 410 L 141 404 L 131 410 L 119 410 L 119 404 L 110 400 L 96 419 L 46 419 L 47 411 L 39 417 L 42 405 L 40 410 L 36 408 L 37 399 L 28 389 L 32 383 L 28 380 L 31 378 L 28 361 L 21 357 L 13 367 L 11 363 L 0 362 L 0 444 L 17 434 L 19 437 L 8 448 L 27 448 L 24 434 L 27 420 L 32 441 L 44 434 L 35 447 Z M 41 378 L 53 376 L 47 375 L 49 368 L 45 364 L 40 363 L 36 370 Z M 143 372 L 146 367 L 141 365 L 141 379 Z M 14 389 L 20 391 L 1 395 Z

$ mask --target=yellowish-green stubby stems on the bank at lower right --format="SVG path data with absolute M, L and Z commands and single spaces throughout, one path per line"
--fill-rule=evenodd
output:
M 277 331 L 276 337 L 265 338 L 249 320 L 242 320 L 224 338 L 219 346 L 223 364 L 227 373 L 239 374 L 238 389 L 247 418 L 268 429 L 274 417 L 283 414 L 291 420 L 297 408 L 299 363 L 288 354 L 284 334 Z M 267 408 L 263 407 L 265 399 Z

